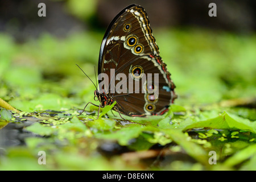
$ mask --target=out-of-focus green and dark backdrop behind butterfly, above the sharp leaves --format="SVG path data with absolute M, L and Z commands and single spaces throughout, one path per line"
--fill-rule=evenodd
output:
M 41 2 L 46 17 L 38 16 Z M 216 17 L 208 15 L 212 2 Z M 255 97 L 253 0 L 2 0 L 0 97 L 26 111 L 83 107 L 93 101 L 93 84 L 75 64 L 94 80 L 105 30 L 132 3 L 147 11 L 176 85 L 176 104 Z

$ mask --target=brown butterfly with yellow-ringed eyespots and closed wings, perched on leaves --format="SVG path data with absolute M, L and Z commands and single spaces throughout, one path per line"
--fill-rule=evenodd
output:
M 100 101 L 99 110 L 116 101 L 113 110 L 119 114 L 162 115 L 177 98 L 147 13 L 139 5 L 127 6 L 109 24 L 100 48 L 98 74 L 94 100 Z M 100 79 L 100 75 L 107 78 Z

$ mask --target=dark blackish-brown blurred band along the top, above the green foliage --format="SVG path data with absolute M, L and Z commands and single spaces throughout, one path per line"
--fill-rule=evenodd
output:
M 40 2 L 46 4 L 47 17 L 38 16 Z M 211 2 L 217 5 L 217 17 L 209 18 L 208 5 Z M 31 37 L 36 38 L 42 32 L 63 37 L 77 30 L 104 31 L 114 16 L 132 3 L 137 3 L 146 9 L 153 29 L 195 26 L 238 34 L 251 34 L 256 30 L 256 2 L 253 0 L 159 0 L 157 3 L 146 0 L 1 0 L 0 31 L 13 35 L 18 42 L 26 41 Z M 80 7 L 80 10 L 77 10 L 77 7 Z

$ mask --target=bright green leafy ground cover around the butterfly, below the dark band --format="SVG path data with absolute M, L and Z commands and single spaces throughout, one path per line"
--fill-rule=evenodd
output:
M 255 35 L 195 29 L 154 35 L 179 98 L 162 117 L 124 121 L 110 107 L 99 118 L 96 106 L 79 115 L 97 102 L 75 64 L 94 78 L 103 33 L 45 34 L 24 44 L 1 34 L 0 98 L 22 112 L 1 109 L 0 134 L 14 125 L 30 135 L 24 144 L 3 146 L 0 169 L 255 170 Z M 46 165 L 38 164 L 39 151 L 46 151 Z M 216 151 L 216 165 L 209 151 Z

